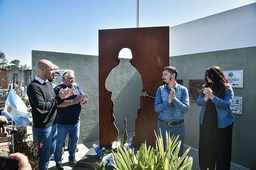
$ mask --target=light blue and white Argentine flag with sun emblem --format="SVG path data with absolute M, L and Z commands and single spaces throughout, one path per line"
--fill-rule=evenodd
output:
M 29 126 L 31 112 L 14 90 L 10 90 L 3 110 L 7 119 L 11 118 L 18 126 Z

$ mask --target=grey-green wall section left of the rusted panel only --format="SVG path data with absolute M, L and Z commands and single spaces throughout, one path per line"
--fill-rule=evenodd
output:
M 32 79 L 37 74 L 36 64 L 40 59 L 48 59 L 62 70 L 73 70 L 75 82 L 89 94 L 88 103 L 82 105 L 79 143 L 99 139 L 99 74 L 98 56 L 32 51 Z M 72 116 L 72 113 L 70 113 Z

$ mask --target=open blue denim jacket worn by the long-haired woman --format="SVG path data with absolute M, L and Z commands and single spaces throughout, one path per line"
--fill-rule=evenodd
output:
M 204 100 L 205 95 L 201 93 L 196 100 L 198 106 L 202 106 L 201 112 L 199 114 L 199 123 L 202 124 L 204 120 L 204 111 L 206 109 L 207 102 Z M 215 104 L 216 111 L 218 114 L 218 128 L 225 128 L 228 125 L 232 124 L 234 121 L 234 114 L 230 109 L 232 100 L 234 97 L 234 92 L 232 87 L 227 88 L 223 99 L 218 98 L 214 95 L 212 102 Z M 210 99 L 209 99 L 210 100 Z

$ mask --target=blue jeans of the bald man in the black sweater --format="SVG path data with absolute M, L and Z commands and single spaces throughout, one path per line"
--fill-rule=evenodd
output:
M 51 154 L 54 153 L 56 145 L 57 127 L 52 125 L 48 128 L 32 128 L 33 139 L 39 148 L 39 169 L 47 170 Z M 40 143 L 43 146 L 40 148 Z

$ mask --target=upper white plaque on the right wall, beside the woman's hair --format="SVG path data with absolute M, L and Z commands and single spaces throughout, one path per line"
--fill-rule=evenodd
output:
M 232 87 L 243 88 L 243 70 L 223 72 Z

